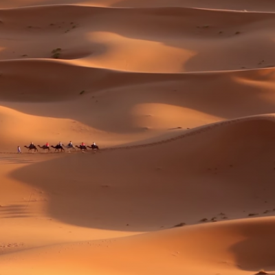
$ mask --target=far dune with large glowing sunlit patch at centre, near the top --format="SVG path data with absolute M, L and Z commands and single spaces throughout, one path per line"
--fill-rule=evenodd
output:
M 0 17 L 1 60 L 52 58 L 60 48 L 59 58 L 74 64 L 135 72 L 275 64 L 272 13 L 50 5 L 0 10 Z

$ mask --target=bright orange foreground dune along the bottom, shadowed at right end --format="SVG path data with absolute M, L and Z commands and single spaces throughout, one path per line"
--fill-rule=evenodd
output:
M 2 256 L 0 263 L 5 274 L 256 274 L 262 267 L 274 270 L 273 230 L 273 218 L 196 225 L 19 252 L 12 261 Z M 251 250 L 255 245 L 259 250 Z M 123 262 L 118 261 L 121 253 Z

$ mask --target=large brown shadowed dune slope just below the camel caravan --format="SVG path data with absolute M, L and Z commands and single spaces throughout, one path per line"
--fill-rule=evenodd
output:
M 265 201 L 274 201 L 275 193 L 274 122 L 220 127 L 138 151 L 63 155 L 10 177 L 43 190 L 54 219 L 87 228 L 151 231 L 219 212 L 230 217 L 248 205 L 270 209 Z M 49 173 L 41 177 L 45 168 Z

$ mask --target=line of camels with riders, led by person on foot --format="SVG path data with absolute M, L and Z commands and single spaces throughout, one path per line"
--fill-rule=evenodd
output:
M 30 143 L 29 146 L 24 146 L 25 148 L 28 148 L 28 152 L 29 151 L 34 151 L 34 152 L 38 152 L 38 148 L 34 145 L 33 142 Z M 71 149 L 74 149 L 74 151 L 76 151 L 76 148 L 79 148 L 81 151 L 85 152 L 88 150 L 88 148 L 91 148 L 93 151 L 98 151 L 99 148 L 98 148 L 98 145 L 96 145 L 96 143 L 94 142 L 93 144 L 91 144 L 91 146 L 86 146 L 84 142 L 82 142 L 79 146 L 76 145 L 74 146 L 72 144 L 72 141 L 69 142 L 69 144 L 67 145 L 64 145 L 62 144 L 61 142 L 59 142 L 58 144 L 56 144 L 56 146 L 50 146 L 50 144 L 47 142 L 45 145 L 43 146 L 40 146 L 38 145 L 39 148 L 43 149 L 43 151 L 48 151 L 50 152 L 51 151 L 51 147 L 54 148 L 54 152 L 58 151 L 58 152 L 65 152 L 65 148 L 67 149 L 68 152 L 70 152 Z M 18 146 L 19 148 L 19 151 L 18 153 L 21 153 L 21 150 L 20 150 L 20 147 Z

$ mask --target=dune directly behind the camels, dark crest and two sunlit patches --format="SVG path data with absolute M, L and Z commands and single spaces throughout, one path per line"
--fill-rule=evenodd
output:
M 25 70 L 24 63 L 28 63 Z M 3 129 L 12 133 L 12 137 L 17 137 L 18 131 L 25 131 L 25 136 L 21 135 L 23 144 L 31 138 L 36 144 L 74 139 L 78 143 L 100 140 L 103 146 L 110 146 L 274 110 L 274 69 L 136 74 L 60 61 L 1 64 L 5 64 L 0 83 L 5 91 L 1 94 L 1 104 L 8 108 L 3 109 Z M 40 69 L 36 70 L 37 67 Z M 69 74 L 78 75 L 78 80 L 67 78 Z M 80 94 L 83 90 L 84 94 Z M 47 118 L 49 108 L 50 119 Z M 25 119 L 22 113 L 26 114 Z M 30 118 L 34 118 L 32 124 L 27 122 Z M 43 135 L 38 125 L 44 129 Z M 2 137 L 1 151 L 10 151 L 18 142 L 11 144 Z

